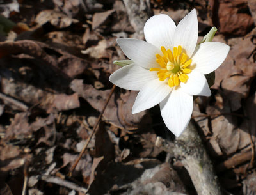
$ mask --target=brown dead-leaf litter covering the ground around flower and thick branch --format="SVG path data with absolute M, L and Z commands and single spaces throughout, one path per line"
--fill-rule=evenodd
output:
M 256 194 L 256 1 L 138 2 L 176 24 L 196 8 L 198 40 L 216 26 L 213 41 L 230 45 L 192 118 L 223 193 Z M 138 92 L 120 88 L 68 174 L 111 93 L 112 62 L 127 59 L 116 38 L 144 38 L 127 10 L 119 0 L 0 1 L 1 195 L 24 183 L 29 195 L 196 194 L 180 159 L 155 145 L 175 139 L 159 105 L 131 114 Z

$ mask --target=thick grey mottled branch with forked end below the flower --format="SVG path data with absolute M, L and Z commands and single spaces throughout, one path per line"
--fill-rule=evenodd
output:
M 221 195 L 220 185 L 211 159 L 197 132 L 195 121 L 175 141 L 157 137 L 156 146 L 180 159 L 187 169 L 198 195 Z

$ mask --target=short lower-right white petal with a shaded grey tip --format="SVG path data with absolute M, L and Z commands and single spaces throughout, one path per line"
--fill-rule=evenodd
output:
M 196 70 L 192 70 L 188 74 L 188 81 L 186 83 L 181 82 L 180 86 L 181 90 L 189 95 L 211 95 L 211 90 L 205 76 Z

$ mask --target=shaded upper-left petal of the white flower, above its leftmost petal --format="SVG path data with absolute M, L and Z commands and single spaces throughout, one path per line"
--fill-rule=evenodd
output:
M 156 46 L 134 38 L 118 38 L 116 42 L 124 54 L 136 65 L 148 69 L 160 67 L 156 63 L 156 54 L 160 54 L 161 50 Z

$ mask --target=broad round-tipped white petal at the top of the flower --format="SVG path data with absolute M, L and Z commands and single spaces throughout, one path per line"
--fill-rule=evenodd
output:
M 166 49 L 172 49 L 175 28 L 175 23 L 168 15 L 154 15 L 144 26 L 145 39 L 158 48 L 164 46 Z

